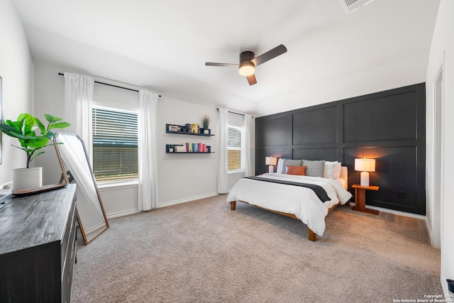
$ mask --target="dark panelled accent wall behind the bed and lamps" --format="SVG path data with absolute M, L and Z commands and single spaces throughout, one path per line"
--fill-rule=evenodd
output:
M 360 183 L 355 158 L 375 158 L 366 204 L 426 214 L 426 87 L 424 83 L 333 101 L 255 120 L 255 173 L 265 157 L 340 161 L 348 190 Z M 354 200 L 354 198 L 353 198 Z

